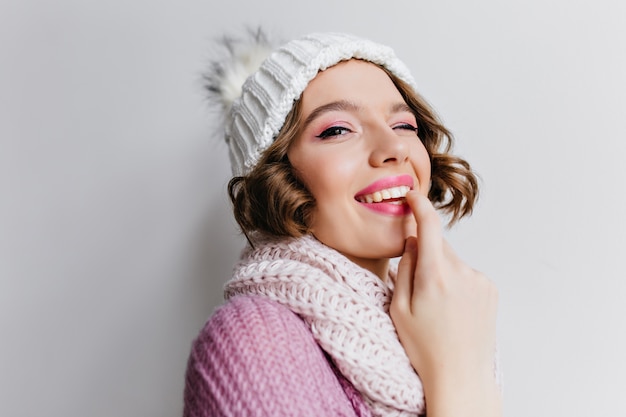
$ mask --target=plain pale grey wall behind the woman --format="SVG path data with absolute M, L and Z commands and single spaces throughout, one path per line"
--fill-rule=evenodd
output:
M 480 173 L 448 233 L 499 286 L 506 414 L 626 415 L 626 3 L 0 5 L 0 415 L 177 416 L 243 240 L 202 94 L 262 24 L 392 45 Z

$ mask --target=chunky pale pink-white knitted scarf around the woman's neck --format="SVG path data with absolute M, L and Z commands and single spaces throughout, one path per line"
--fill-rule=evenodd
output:
M 422 383 L 388 314 L 391 289 L 370 271 L 312 236 L 255 239 L 225 286 L 227 299 L 240 294 L 302 317 L 374 416 L 425 413 Z

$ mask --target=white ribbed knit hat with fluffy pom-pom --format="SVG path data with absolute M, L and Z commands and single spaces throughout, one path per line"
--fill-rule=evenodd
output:
M 254 68 L 269 51 L 264 36 L 257 34 L 257 41 L 256 47 L 243 50 L 230 43 L 234 62 L 220 62 L 219 73 L 207 76 L 209 91 L 220 95 L 224 106 L 233 175 L 246 175 L 256 165 L 318 71 L 351 58 L 362 59 L 385 67 L 415 89 L 408 68 L 391 48 L 353 35 L 310 34 L 278 48 L 260 68 Z M 243 79 L 246 71 L 251 75 L 239 87 L 236 80 Z

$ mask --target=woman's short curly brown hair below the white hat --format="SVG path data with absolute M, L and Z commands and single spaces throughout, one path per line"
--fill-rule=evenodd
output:
M 382 69 L 415 114 L 418 136 L 431 162 L 428 198 L 450 216 L 450 226 L 472 213 L 478 199 L 476 174 L 467 161 L 452 155 L 453 136 L 432 107 L 407 83 Z M 296 100 L 276 140 L 250 173 L 234 177 L 228 183 L 235 219 L 248 239 L 254 231 L 292 237 L 309 232 L 315 199 L 298 179 L 287 157 L 291 143 L 299 134 L 300 107 L 300 100 Z

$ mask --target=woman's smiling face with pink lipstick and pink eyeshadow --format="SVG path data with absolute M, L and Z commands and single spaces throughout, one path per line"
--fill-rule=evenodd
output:
M 430 183 L 415 116 L 383 70 L 358 60 L 320 72 L 304 90 L 301 110 L 288 157 L 316 201 L 313 235 L 385 273 L 388 258 L 415 233 L 402 197 L 408 189 L 426 195 Z

